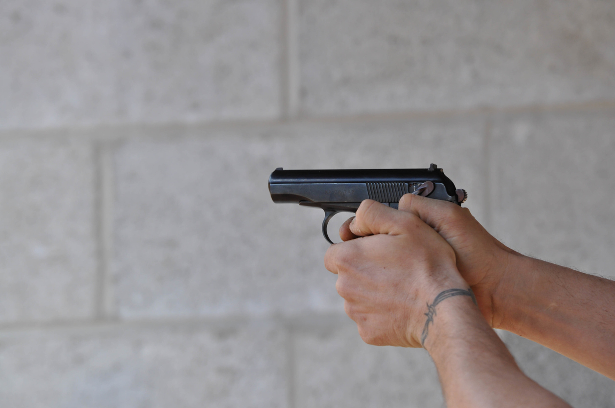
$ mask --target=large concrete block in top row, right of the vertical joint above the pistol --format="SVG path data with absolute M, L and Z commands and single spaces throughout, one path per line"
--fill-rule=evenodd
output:
M 613 100 L 609 1 L 301 1 L 300 111 Z

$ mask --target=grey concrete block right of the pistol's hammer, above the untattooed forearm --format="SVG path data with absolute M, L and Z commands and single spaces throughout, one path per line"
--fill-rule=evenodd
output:
M 615 277 L 615 112 L 496 121 L 493 230 L 512 248 Z

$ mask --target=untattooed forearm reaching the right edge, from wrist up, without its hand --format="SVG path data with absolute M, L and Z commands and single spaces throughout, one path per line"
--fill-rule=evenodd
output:
M 615 380 L 615 282 L 526 256 L 510 265 L 494 294 L 494 327 Z

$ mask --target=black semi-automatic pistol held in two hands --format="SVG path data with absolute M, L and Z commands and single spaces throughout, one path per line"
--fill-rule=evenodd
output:
M 356 213 L 363 200 L 375 200 L 398 208 L 404 194 L 445 200 L 461 205 L 464 189 L 456 189 L 441 168 L 395 168 L 375 170 L 283 170 L 269 176 L 274 203 L 298 203 L 325 210 L 322 235 L 331 244 L 327 224 L 337 213 Z

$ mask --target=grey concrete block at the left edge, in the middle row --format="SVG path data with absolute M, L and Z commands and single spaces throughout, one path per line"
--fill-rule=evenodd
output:
M 0 323 L 92 316 L 92 148 L 7 137 L 0 140 Z

